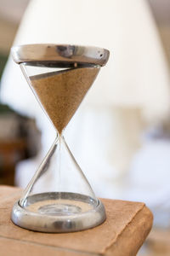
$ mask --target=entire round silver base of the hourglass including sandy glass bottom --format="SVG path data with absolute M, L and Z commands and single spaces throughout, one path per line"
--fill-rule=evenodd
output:
M 105 207 L 86 195 L 53 192 L 31 195 L 24 207 L 17 201 L 11 219 L 27 230 L 62 233 L 93 228 L 105 221 Z

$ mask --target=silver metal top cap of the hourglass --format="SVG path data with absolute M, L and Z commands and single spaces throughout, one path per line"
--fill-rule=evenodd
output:
M 12 48 L 14 61 L 20 63 L 53 63 L 57 67 L 70 67 L 72 63 L 105 66 L 108 49 L 71 44 L 24 44 Z

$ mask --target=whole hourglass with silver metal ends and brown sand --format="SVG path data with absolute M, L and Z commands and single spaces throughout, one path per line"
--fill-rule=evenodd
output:
M 56 138 L 20 201 L 14 224 L 42 232 L 86 230 L 105 221 L 63 132 L 109 58 L 107 49 L 65 44 L 27 44 L 12 49 L 31 90 L 56 130 Z M 76 138 L 75 138 L 76 139 Z

